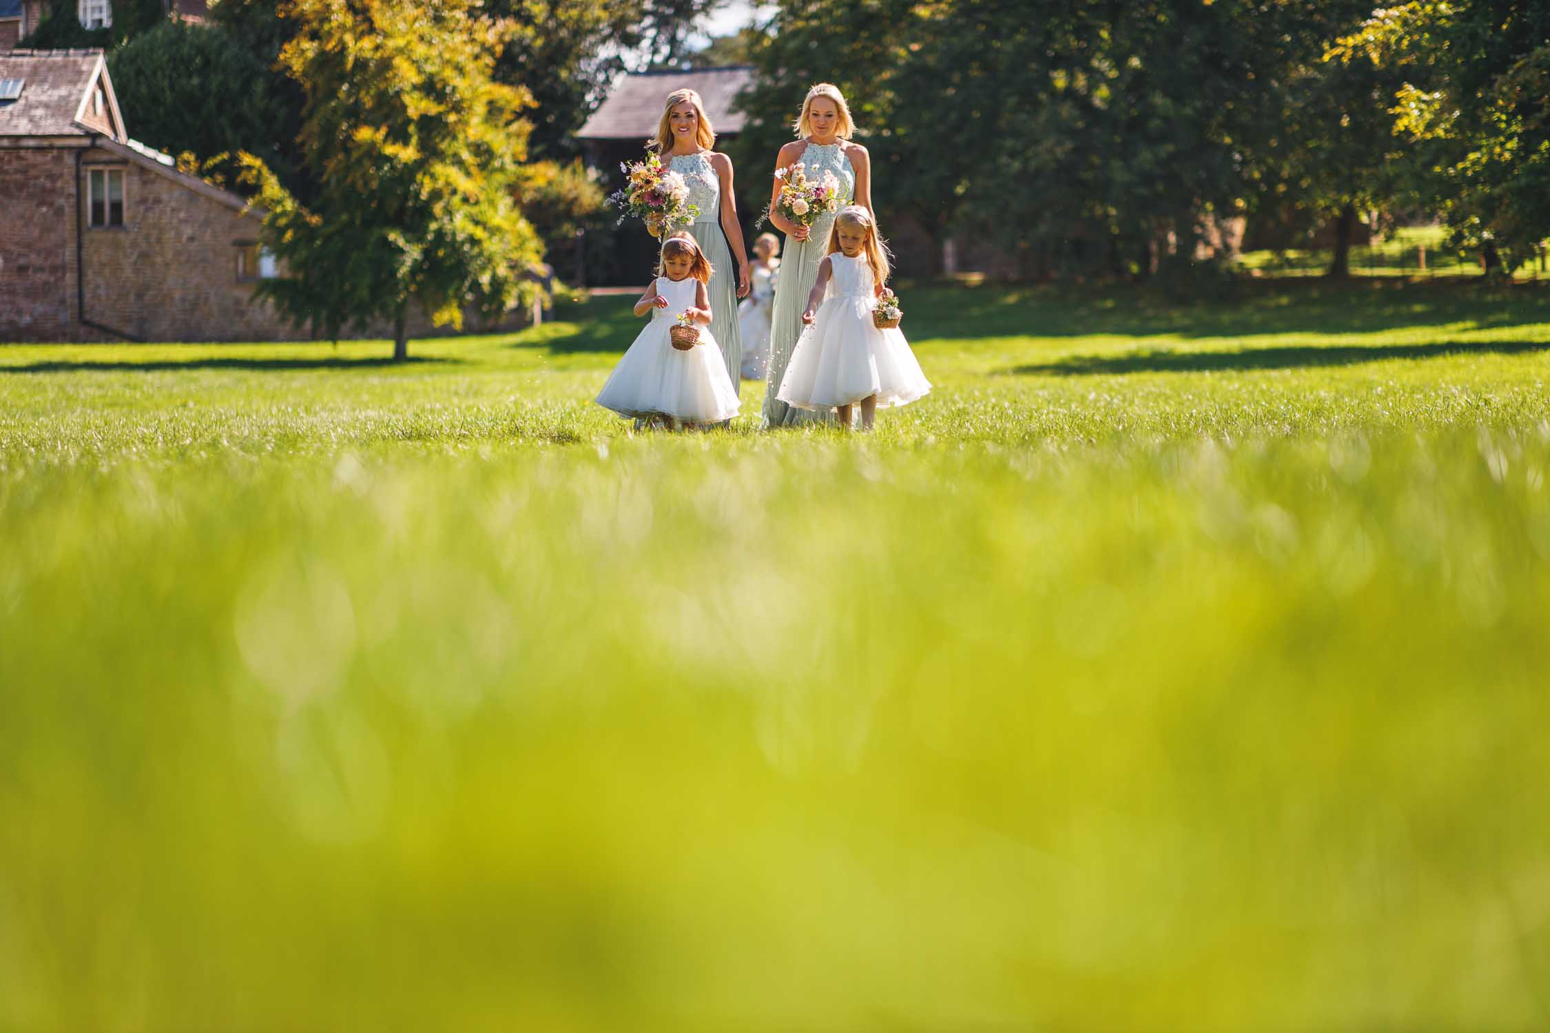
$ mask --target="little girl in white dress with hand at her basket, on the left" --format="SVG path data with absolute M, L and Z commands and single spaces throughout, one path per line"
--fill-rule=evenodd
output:
M 721 348 L 710 336 L 710 262 L 688 234 L 662 245 L 662 276 L 636 302 L 636 316 L 651 313 L 625 358 L 597 396 L 597 404 L 626 418 L 674 420 L 691 427 L 738 415 L 738 389 L 727 376 Z M 693 325 L 699 341 L 680 352 L 671 341 L 674 325 Z

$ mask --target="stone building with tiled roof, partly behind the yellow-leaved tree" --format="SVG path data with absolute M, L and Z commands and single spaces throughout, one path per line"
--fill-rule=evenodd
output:
M 264 211 L 130 139 L 101 51 L 0 53 L 0 341 L 312 338 L 254 297 Z

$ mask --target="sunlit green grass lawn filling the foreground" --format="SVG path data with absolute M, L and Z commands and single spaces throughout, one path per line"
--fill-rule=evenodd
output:
M 1550 1025 L 1550 290 L 901 293 L 0 348 L 0 1030 Z

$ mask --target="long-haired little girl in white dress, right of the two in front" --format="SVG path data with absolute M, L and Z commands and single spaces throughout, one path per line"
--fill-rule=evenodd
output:
M 887 282 L 888 252 L 873 214 L 860 204 L 842 208 L 801 313 L 808 330 L 777 398 L 801 409 L 839 409 L 843 427 L 851 426 L 851 406 L 860 403 L 862 427 L 871 429 L 879 407 L 902 406 L 932 390 L 899 328 L 879 330 L 873 322 Z

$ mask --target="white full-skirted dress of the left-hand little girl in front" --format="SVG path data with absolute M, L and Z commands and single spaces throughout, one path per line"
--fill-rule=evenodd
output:
M 721 423 L 738 415 L 738 389 L 727 375 L 716 339 L 699 325 L 699 344 L 679 352 L 668 341 L 673 321 L 694 308 L 698 280 L 656 279 L 656 293 L 668 299 L 666 308 L 653 308 L 651 322 L 625 352 L 597 404 L 626 418 L 673 417 L 690 423 Z

